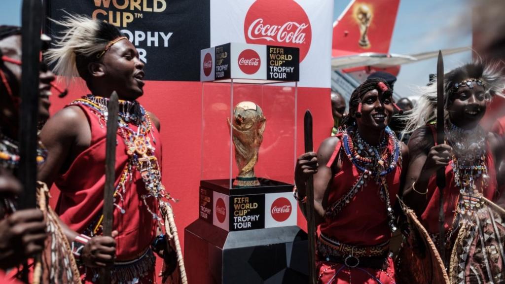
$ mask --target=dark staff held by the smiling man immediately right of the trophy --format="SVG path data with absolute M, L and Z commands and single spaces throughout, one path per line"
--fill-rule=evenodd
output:
M 305 152 L 313 151 L 312 141 L 312 114 L 310 110 L 304 117 Z M 314 178 L 311 175 L 307 180 L 307 231 L 309 235 L 309 283 L 316 284 L 316 221 L 314 220 Z

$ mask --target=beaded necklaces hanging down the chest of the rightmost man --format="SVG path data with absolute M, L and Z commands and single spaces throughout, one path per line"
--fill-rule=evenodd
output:
M 455 211 L 455 224 L 475 225 L 474 218 L 485 217 L 482 189 L 489 184 L 486 165 L 486 132 L 477 126 L 470 130 L 459 128 L 450 121 L 445 123 L 445 136 L 452 147 L 452 171 L 454 182 L 460 188 Z

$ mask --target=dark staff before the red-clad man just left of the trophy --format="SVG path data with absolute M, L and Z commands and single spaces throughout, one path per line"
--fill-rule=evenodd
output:
M 105 188 L 104 188 L 104 233 L 105 236 L 112 235 L 112 222 L 114 211 L 114 181 L 116 180 L 116 136 L 118 131 L 119 99 L 116 91 L 113 91 L 109 99 L 107 110 L 107 140 L 105 152 Z M 111 283 L 111 270 L 103 269 L 102 284 Z

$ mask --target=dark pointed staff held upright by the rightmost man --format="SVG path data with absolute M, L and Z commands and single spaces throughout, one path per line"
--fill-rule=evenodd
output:
M 437 145 L 444 144 L 444 96 L 443 96 L 443 58 L 442 52 L 438 52 L 437 62 Z M 445 187 L 445 167 L 437 170 L 436 183 L 438 187 L 439 208 L 438 208 L 438 229 L 440 232 L 439 251 L 445 263 L 445 215 L 443 212 L 443 191 Z

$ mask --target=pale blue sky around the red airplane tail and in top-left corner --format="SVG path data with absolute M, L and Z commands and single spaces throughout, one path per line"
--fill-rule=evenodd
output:
M 2 2 L 0 24 L 20 25 L 21 0 Z M 334 3 L 333 18 L 337 19 L 349 0 L 334 0 Z M 467 4 L 465 0 L 401 0 L 389 52 L 409 55 L 471 46 L 472 18 Z M 470 52 L 446 56 L 445 70 L 469 61 Z M 403 65 L 394 89 L 401 96 L 409 97 L 412 86 L 426 84 L 428 74 L 435 72 L 436 59 Z

